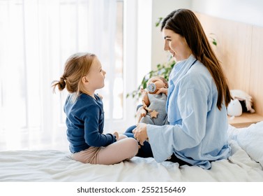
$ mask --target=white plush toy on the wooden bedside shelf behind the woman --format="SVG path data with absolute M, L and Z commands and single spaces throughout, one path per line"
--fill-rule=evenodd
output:
M 249 94 L 243 92 L 242 90 L 230 90 L 230 93 L 233 99 L 227 106 L 227 114 L 229 116 L 241 116 L 243 111 L 255 113 L 255 110 L 252 108 L 253 100 Z M 243 109 L 241 102 L 245 103 L 245 107 Z

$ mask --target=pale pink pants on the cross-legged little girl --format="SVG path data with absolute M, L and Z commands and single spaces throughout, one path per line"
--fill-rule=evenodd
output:
M 112 165 L 130 160 L 138 152 L 138 143 L 133 138 L 120 135 L 119 140 L 106 147 L 89 147 L 87 150 L 73 153 L 71 158 L 83 163 Z

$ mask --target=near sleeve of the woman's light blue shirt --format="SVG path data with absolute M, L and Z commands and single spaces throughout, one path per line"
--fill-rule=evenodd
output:
M 174 153 L 186 148 L 194 148 L 199 145 L 206 133 L 207 99 L 205 92 L 194 87 L 184 88 L 179 92 L 178 106 L 181 119 L 174 125 L 147 125 L 147 134 L 153 157 L 157 162 L 163 162 Z M 170 115 L 174 115 L 170 113 Z

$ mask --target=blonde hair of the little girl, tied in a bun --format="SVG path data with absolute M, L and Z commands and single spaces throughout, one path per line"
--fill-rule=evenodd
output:
M 89 52 L 75 53 L 70 56 L 64 68 L 64 73 L 60 77 L 60 80 L 54 80 L 52 82 L 53 92 L 56 92 L 56 87 L 59 91 L 62 91 L 65 87 L 68 92 L 75 94 L 73 100 L 83 92 L 82 77 L 87 76 L 91 64 L 96 55 Z

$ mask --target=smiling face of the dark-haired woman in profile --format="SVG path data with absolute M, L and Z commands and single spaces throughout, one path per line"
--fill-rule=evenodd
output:
M 174 31 L 163 29 L 163 38 L 165 40 L 164 50 L 169 51 L 176 62 L 188 59 L 192 54 L 192 51 L 186 43 L 186 38 L 174 33 Z

